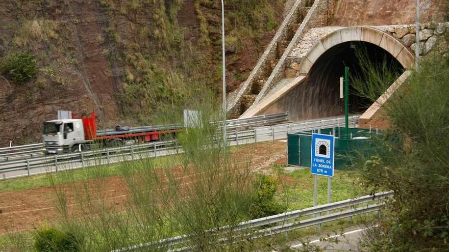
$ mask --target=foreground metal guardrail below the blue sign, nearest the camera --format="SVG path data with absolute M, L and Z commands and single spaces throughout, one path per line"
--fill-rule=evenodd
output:
M 215 235 L 215 243 L 219 243 L 220 245 L 259 239 L 265 236 L 279 235 L 330 221 L 380 211 L 380 207 L 385 204 L 385 200 L 392 197 L 393 193 L 393 191 L 380 192 L 374 195 L 366 195 L 355 199 L 243 221 L 232 227 L 225 226 L 206 232 Z M 226 234 L 226 232 L 231 229 L 235 233 L 233 235 L 233 241 L 230 241 L 228 238 L 229 234 Z M 195 247 L 195 244 L 189 244 L 191 243 L 190 237 L 194 236 L 181 235 L 156 242 L 124 247 L 112 250 L 111 252 L 134 251 L 149 246 L 166 248 L 167 251 L 189 251 L 193 250 Z

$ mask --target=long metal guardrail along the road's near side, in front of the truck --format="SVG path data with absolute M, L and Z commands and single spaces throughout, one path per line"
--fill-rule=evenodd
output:
M 354 126 L 360 116 L 351 116 L 349 121 Z M 309 122 L 289 123 L 276 126 L 264 126 L 251 130 L 235 130 L 228 132 L 228 145 L 243 145 L 285 139 L 287 132 L 306 131 L 312 129 L 342 126 L 344 118 L 323 119 Z M 130 145 L 117 148 L 100 149 L 70 154 L 60 154 L 12 160 L 0 163 L 0 179 L 17 178 L 60 172 L 85 167 L 113 164 L 123 161 L 134 161 L 143 158 L 154 158 L 182 153 L 182 146 L 176 141 L 152 142 L 141 145 Z

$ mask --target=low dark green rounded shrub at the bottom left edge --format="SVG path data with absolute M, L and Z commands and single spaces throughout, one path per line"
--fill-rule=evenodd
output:
M 34 234 L 34 248 L 38 252 L 79 251 L 76 237 L 56 228 L 43 228 Z

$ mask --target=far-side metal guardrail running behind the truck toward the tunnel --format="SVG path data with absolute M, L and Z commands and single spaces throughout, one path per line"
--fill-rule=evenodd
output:
M 278 113 L 278 114 L 270 114 L 270 115 L 262 115 L 255 116 L 249 118 L 238 118 L 227 120 L 227 129 L 236 129 L 242 127 L 254 127 L 254 126 L 264 126 L 270 124 L 277 124 L 288 121 L 288 112 Z M 216 122 L 219 123 L 219 122 Z M 142 127 L 133 127 L 130 131 L 120 131 L 115 132 L 115 129 L 103 129 L 98 130 L 98 135 L 112 134 L 115 132 L 116 134 L 126 134 L 132 133 L 135 131 L 141 130 L 164 130 L 167 127 L 169 128 L 181 128 L 181 124 L 171 124 L 171 125 L 154 125 L 154 126 L 142 126 Z M 0 159 L 8 159 L 12 157 L 25 157 L 33 155 L 42 154 L 43 144 L 32 144 L 32 145 L 21 145 L 21 146 L 13 146 L 13 147 L 5 147 L 0 148 Z M 21 151 L 21 152 L 18 152 Z

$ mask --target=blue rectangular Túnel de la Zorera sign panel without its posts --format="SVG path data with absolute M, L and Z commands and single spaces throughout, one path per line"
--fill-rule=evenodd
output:
M 333 135 L 312 134 L 312 174 L 334 177 L 334 140 Z

